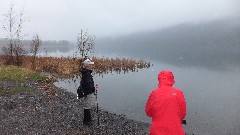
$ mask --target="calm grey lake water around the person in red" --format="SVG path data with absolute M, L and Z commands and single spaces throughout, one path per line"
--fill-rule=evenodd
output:
M 128 118 L 151 122 L 144 107 L 150 92 L 157 87 L 157 74 L 169 69 L 175 75 L 174 87 L 182 89 L 187 102 L 187 133 L 199 135 L 240 134 L 240 68 L 207 70 L 177 67 L 152 61 L 153 66 L 126 74 L 94 75 L 99 85 L 99 106 Z M 76 93 L 79 81 L 55 85 Z

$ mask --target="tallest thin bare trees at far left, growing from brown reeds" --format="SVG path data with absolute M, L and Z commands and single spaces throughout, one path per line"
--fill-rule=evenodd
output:
M 22 33 L 23 24 L 25 19 L 23 18 L 23 10 L 17 14 L 14 10 L 14 4 L 10 4 L 10 9 L 7 14 L 4 15 L 5 23 L 3 23 L 3 29 L 7 33 L 7 39 L 9 44 L 7 47 L 2 48 L 3 52 L 9 56 L 8 64 L 20 65 L 20 57 L 26 53 L 21 43 L 21 40 L 26 36 Z M 16 61 L 14 61 L 14 56 Z

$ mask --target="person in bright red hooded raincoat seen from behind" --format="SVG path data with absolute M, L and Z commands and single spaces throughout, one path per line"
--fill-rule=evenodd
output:
M 185 135 L 182 120 L 186 116 L 186 102 L 180 89 L 172 88 L 174 76 L 171 71 L 158 74 L 158 88 L 153 90 L 145 106 L 152 118 L 149 135 Z

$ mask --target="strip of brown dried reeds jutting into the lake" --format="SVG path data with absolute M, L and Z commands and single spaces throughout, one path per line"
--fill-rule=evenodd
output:
M 0 64 L 4 64 L 6 56 L 0 56 Z M 22 57 L 22 67 L 38 72 L 56 73 L 60 76 L 74 76 L 79 74 L 83 59 L 80 58 L 56 58 L 56 57 L 36 57 L 35 66 L 32 64 L 31 56 Z M 137 69 L 148 68 L 150 63 L 144 60 L 133 60 L 129 58 L 97 58 L 93 57 L 95 62 L 94 73 L 107 74 L 112 72 L 126 73 L 134 72 Z

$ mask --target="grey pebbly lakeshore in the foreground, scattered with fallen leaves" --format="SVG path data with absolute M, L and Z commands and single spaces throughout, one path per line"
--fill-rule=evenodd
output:
M 52 84 L 1 81 L 2 88 L 27 91 L 0 96 L 2 135 L 146 135 L 149 124 L 100 109 L 92 126 L 82 123 L 83 109 L 76 95 Z M 97 122 L 99 116 L 99 124 Z

